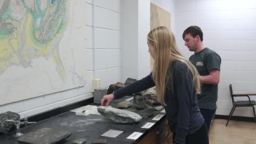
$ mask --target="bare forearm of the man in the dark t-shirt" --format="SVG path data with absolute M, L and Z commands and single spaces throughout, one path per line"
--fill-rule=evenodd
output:
M 209 72 L 209 75 L 199 76 L 199 80 L 201 83 L 211 84 L 211 85 L 218 85 L 219 84 L 219 69 L 212 69 Z

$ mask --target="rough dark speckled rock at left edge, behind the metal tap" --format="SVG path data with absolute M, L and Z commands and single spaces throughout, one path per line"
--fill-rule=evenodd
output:
M 13 122 L 6 122 L 5 120 L 19 120 L 20 115 L 15 112 L 5 112 L 0 114 L 0 133 L 8 133 L 14 128 Z

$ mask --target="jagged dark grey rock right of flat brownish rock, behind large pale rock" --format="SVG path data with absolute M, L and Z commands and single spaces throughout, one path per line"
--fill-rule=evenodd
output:
M 133 106 L 137 109 L 147 109 L 148 107 L 152 107 L 152 102 L 148 96 L 134 96 Z

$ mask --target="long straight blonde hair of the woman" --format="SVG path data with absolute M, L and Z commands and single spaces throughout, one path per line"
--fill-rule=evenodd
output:
M 173 61 L 181 61 L 187 65 L 192 73 L 196 93 L 201 92 L 199 74 L 197 69 L 179 52 L 173 33 L 166 27 L 152 29 L 147 35 L 149 43 L 155 46 L 155 64 L 152 71 L 152 79 L 155 82 L 155 91 L 158 101 L 165 104 L 165 88 L 168 81 L 169 64 Z

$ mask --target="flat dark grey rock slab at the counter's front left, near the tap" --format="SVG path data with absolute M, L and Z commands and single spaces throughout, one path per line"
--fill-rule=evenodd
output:
M 18 142 L 19 144 L 56 144 L 63 139 L 67 139 L 70 135 L 71 133 L 68 131 L 41 128 L 22 135 Z

